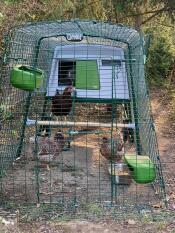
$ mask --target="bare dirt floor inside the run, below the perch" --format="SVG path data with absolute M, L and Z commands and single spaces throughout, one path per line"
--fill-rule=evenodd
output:
M 102 135 L 75 136 L 71 149 L 63 151 L 49 170 L 39 168 L 31 157 L 33 153 L 26 151 L 26 156 L 17 160 L 2 179 L 1 198 L 12 205 L 62 203 L 65 211 L 75 201 L 80 210 L 99 202 L 106 206 L 112 201 L 128 208 L 159 203 L 151 184 L 137 184 L 132 180 L 129 185 L 111 185 L 110 162 L 99 151 Z M 125 146 L 126 153 L 131 149 L 135 148 Z

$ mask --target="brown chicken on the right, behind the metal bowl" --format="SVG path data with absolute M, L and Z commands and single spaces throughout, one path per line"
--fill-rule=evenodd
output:
M 103 137 L 100 153 L 107 160 L 120 162 L 124 155 L 124 143 L 121 135 L 118 134 L 114 138 Z

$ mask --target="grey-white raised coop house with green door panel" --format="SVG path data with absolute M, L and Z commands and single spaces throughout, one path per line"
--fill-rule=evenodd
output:
M 58 43 L 53 53 L 47 68 L 50 70 L 47 96 L 54 96 L 57 89 L 62 91 L 71 83 L 76 89 L 77 101 L 128 101 L 128 76 L 123 48 L 104 44 L 74 44 L 69 41 L 69 44 L 64 45 Z

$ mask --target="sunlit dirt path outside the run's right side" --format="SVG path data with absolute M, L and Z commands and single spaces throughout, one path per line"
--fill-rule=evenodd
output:
M 162 161 L 167 200 L 175 209 L 175 125 L 171 121 L 171 99 L 166 91 L 152 91 L 151 105 L 156 124 L 157 139 Z

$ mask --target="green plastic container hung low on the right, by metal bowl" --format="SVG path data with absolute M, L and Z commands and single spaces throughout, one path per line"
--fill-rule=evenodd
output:
M 131 176 L 136 183 L 146 184 L 155 180 L 155 167 L 148 156 L 125 155 L 125 162 L 128 165 Z

